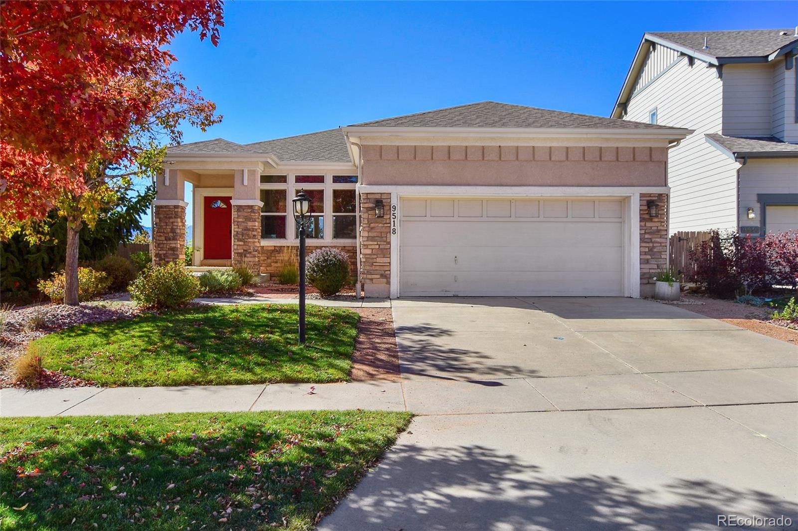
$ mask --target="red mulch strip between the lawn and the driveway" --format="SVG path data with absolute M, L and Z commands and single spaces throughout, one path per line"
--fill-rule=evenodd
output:
M 352 353 L 352 381 L 400 380 L 399 351 L 390 308 L 352 308 L 360 314 Z

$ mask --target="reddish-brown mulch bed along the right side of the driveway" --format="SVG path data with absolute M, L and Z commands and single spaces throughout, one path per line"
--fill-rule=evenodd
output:
M 681 295 L 682 301 L 689 302 L 689 311 L 713 317 L 729 325 L 746 328 L 763 336 L 798 345 L 798 330 L 787 328 L 789 323 L 770 321 L 770 313 L 764 308 L 743 305 L 733 301 L 723 301 L 706 295 Z

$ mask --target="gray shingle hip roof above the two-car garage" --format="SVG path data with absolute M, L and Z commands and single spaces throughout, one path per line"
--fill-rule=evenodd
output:
M 546 108 L 504 104 L 496 101 L 441 108 L 353 124 L 353 127 L 409 128 L 606 128 L 676 129 L 602 116 L 552 111 Z

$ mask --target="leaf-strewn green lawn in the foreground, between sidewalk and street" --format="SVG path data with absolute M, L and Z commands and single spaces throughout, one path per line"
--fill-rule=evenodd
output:
M 408 413 L 0 419 L 2 529 L 311 529 Z

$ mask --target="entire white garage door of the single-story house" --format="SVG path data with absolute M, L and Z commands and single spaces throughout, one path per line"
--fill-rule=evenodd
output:
M 620 199 L 402 199 L 400 297 L 618 296 Z

